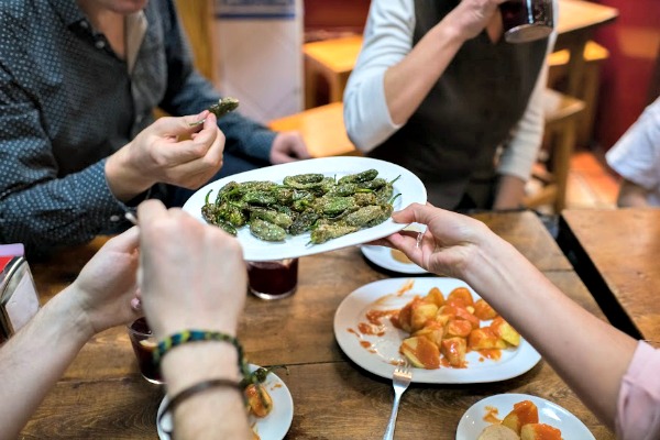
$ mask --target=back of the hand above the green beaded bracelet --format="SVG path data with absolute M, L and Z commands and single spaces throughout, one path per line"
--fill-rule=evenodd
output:
M 238 240 L 157 200 L 138 213 L 142 307 L 154 334 L 191 328 L 235 334 L 248 286 Z

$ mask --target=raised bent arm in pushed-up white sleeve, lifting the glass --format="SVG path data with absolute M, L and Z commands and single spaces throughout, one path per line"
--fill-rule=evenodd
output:
M 502 1 L 462 1 L 415 47 L 414 2 L 372 2 L 362 52 L 344 91 L 351 141 L 369 152 L 403 127 L 463 43 L 484 30 Z

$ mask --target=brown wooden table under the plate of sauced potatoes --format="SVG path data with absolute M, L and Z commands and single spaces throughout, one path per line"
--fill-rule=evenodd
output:
M 509 240 L 571 298 L 604 319 L 596 302 L 539 219 L 531 212 L 476 216 Z M 69 283 L 102 240 L 32 270 L 47 299 Z M 298 292 L 286 299 L 248 298 L 239 334 L 251 362 L 287 364 L 278 374 L 294 398 L 287 439 L 375 439 L 392 407 L 392 382 L 371 375 L 342 353 L 333 336 L 334 311 L 351 292 L 386 278 L 356 248 L 300 258 Z M 597 439 L 614 439 L 541 360 L 503 382 L 411 385 L 397 422 L 397 439 L 454 439 L 463 413 L 499 393 L 526 393 L 552 400 L 578 416 Z M 138 371 L 123 328 L 94 338 L 46 397 L 22 436 L 26 439 L 157 439 L 160 387 Z M 430 435 L 432 432 L 432 435 Z

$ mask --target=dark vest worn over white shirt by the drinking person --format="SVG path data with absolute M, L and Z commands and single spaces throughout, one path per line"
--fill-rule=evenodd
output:
M 413 45 L 457 4 L 415 0 Z M 471 180 L 494 175 L 497 146 L 525 112 L 547 44 L 492 43 L 483 31 L 463 44 L 408 122 L 369 155 L 411 170 L 431 204 L 454 209 Z

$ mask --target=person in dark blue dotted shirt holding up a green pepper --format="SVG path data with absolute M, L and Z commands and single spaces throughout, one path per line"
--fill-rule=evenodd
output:
M 201 119 L 220 98 L 173 0 L 2 1 L 0 42 L 0 242 L 84 243 L 145 198 L 182 206 L 208 179 L 309 157 L 299 133 L 240 112 L 218 121 L 216 176 L 209 124 L 188 147 L 183 124 L 139 136 L 156 107 Z

